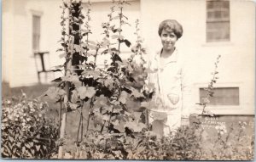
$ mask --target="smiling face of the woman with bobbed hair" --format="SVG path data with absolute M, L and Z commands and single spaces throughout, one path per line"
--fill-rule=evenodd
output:
M 177 42 L 177 36 L 172 31 L 166 31 L 165 29 L 162 31 L 161 42 L 163 45 L 163 50 L 169 51 L 172 50 Z

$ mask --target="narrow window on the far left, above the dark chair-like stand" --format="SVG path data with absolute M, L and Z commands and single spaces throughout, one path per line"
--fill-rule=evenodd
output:
M 39 50 L 40 42 L 40 16 L 32 16 L 32 49 L 33 51 Z

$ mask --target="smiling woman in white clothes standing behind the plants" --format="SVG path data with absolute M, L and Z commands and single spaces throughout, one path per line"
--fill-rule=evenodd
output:
M 149 81 L 154 83 L 153 99 L 157 106 L 150 110 L 149 122 L 154 132 L 168 136 L 179 126 L 189 125 L 191 81 L 187 64 L 175 47 L 183 35 L 182 25 L 177 20 L 164 20 L 158 34 L 162 48 L 150 61 L 150 69 L 155 73 L 149 75 Z

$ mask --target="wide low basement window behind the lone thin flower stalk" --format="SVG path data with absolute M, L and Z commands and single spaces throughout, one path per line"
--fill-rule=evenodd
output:
M 209 105 L 239 105 L 239 87 L 216 87 L 213 92 Z M 200 88 L 200 100 L 206 97 L 207 91 Z

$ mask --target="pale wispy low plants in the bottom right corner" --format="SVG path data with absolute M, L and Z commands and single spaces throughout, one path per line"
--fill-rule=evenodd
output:
M 216 136 L 207 139 L 212 148 L 205 148 L 205 157 L 201 159 L 252 160 L 254 136 L 247 135 L 246 125 L 246 121 L 239 121 L 232 124 L 229 129 L 225 125 L 216 126 Z

